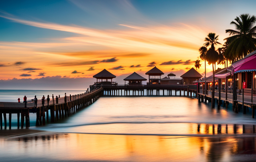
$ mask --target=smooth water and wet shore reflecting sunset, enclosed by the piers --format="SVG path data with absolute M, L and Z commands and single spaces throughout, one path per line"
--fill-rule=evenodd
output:
M 236 114 L 232 105 L 227 110 L 217 105 L 212 109 L 211 103 L 188 97 L 101 97 L 57 123 L 35 127 L 35 118 L 30 114 L 29 129 L 47 132 L 14 136 L 15 130 L 1 131 L 10 132 L 0 138 L 1 160 L 233 162 L 256 158 L 256 119 L 250 109 Z M 15 121 L 13 115 L 12 125 Z

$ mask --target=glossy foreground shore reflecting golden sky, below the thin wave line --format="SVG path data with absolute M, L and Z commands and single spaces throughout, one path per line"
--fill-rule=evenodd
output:
M 0 138 L 3 161 L 253 161 L 256 137 L 56 134 Z M 12 158 L 10 158 L 12 157 Z

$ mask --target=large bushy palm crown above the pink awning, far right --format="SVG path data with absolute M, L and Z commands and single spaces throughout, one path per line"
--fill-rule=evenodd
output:
M 245 57 L 256 50 L 256 17 L 249 14 L 241 14 L 230 24 L 235 25 L 236 30 L 228 29 L 231 37 L 225 38 L 230 42 L 226 52 L 227 55 L 234 55 L 236 59 Z

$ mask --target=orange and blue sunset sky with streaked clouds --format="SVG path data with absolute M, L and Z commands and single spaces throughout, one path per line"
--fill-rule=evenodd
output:
M 1 1 L 0 80 L 9 82 L 7 89 L 34 79 L 91 82 L 105 68 L 121 81 L 133 72 L 145 75 L 155 65 L 164 76 L 180 77 L 194 67 L 208 33 L 224 43 L 225 29 L 234 29 L 230 22 L 255 14 L 255 5 L 238 0 Z

